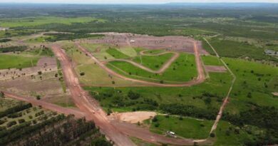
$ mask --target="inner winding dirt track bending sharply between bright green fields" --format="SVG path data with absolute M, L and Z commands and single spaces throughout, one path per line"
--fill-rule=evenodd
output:
M 180 54 L 176 53 L 176 52 L 163 52 L 163 53 L 159 53 L 159 54 L 155 54 L 155 55 L 151 55 L 151 56 L 160 56 L 160 55 L 163 55 L 163 54 L 166 54 L 166 53 L 174 53 L 174 56 L 172 56 L 166 63 L 164 63 L 163 66 L 158 71 L 153 71 L 150 68 L 147 68 L 145 66 L 142 66 L 139 63 L 135 63 L 134 61 L 130 61 L 130 60 L 127 60 L 127 59 L 112 59 L 110 61 L 124 61 L 124 62 L 132 64 L 133 66 L 136 66 L 136 67 L 141 68 L 141 69 L 143 69 L 145 71 L 148 71 L 150 73 L 158 73 L 158 74 L 160 74 L 160 73 L 164 73 L 165 70 L 167 68 L 169 68 L 169 66 L 180 56 Z M 108 62 L 110 62 L 110 61 L 108 61 Z

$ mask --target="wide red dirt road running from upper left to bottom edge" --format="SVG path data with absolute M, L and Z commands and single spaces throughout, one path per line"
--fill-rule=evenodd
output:
M 55 53 L 58 60 L 61 61 L 63 76 L 76 106 L 86 113 L 86 117 L 89 120 L 93 120 L 96 125 L 101 128 L 101 131 L 105 133 L 110 140 L 115 142 L 115 145 L 135 145 L 128 136 L 124 135 L 123 132 L 120 132 L 120 130 L 110 124 L 110 121 L 106 118 L 105 112 L 99 107 L 98 103 L 91 101 L 91 97 L 88 93 L 81 88 L 78 83 L 78 78 L 76 78 L 76 74 L 71 66 L 71 61 L 69 61 L 66 53 L 56 45 L 52 46 L 52 51 Z

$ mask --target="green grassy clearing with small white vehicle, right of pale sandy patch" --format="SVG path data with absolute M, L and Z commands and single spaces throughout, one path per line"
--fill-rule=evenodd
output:
M 180 118 L 175 116 L 158 115 L 157 122 L 151 122 L 150 131 L 158 134 L 165 134 L 166 131 L 173 131 L 185 138 L 205 139 L 210 134 L 213 121 L 196 120 L 192 118 Z

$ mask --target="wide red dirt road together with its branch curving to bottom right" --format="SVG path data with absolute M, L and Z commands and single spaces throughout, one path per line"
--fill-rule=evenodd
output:
M 101 131 L 105 133 L 110 140 L 113 140 L 116 145 L 119 146 L 133 146 L 135 145 L 128 138 L 130 137 L 138 137 L 141 140 L 160 143 L 165 142 L 173 145 L 192 145 L 193 141 L 190 139 L 175 139 L 165 137 L 163 135 L 158 135 L 150 132 L 147 129 L 143 129 L 140 127 L 134 127 L 129 125 L 128 123 L 118 123 L 116 121 L 108 120 L 105 112 L 98 105 L 97 101 L 92 101 L 92 99 L 78 83 L 78 78 L 75 72 L 73 71 L 73 66 L 71 66 L 71 62 L 69 61 L 66 53 L 61 49 L 60 46 L 52 46 L 53 53 L 56 54 L 58 60 L 61 61 L 61 66 L 63 68 L 63 76 L 68 85 L 68 89 L 71 91 L 71 95 L 73 97 L 74 103 L 76 106 L 86 113 L 86 117 L 89 120 L 93 120 L 98 127 L 101 128 Z M 128 136 L 126 136 L 128 135 Z

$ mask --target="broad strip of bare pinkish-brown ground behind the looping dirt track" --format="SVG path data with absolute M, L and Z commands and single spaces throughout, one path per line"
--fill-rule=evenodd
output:
M 133 46 L 143 47 L 148 49 L 162 49 L 165 48 L 168 51 L 185 51 L 189 53 L 195 53 L 192 38 L 185 36 L 148 36 L 139 35 L 133 33 L 98 33 L 104 34 L 104 38 L 93 39 L 91 43 L 106 43 L 115 46 Z M 133 41 L 133 42 L 131 42 Z M 197 43 L 200 54 L 208 54 L 205 49 L 202 49 L 202 43 Z

